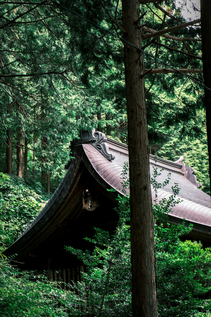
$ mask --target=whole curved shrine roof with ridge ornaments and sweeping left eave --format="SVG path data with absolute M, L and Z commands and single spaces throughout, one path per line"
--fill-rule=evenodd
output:
M 82 135 L 82 133 L 85 133 Z M 128 161 L 127 145 L 112 139 L 106 139 L 100 132 L 82 132 L 80 139 L 71 141 L 71 156 L 75 154 L 65 177 L 58 188 L 50 198 L 44 209 L 38 214 L 29 227 L 22 235 L 5 251 L 5 254 L 13 254 L 21 248 L 22 244 L 33 237 L 39 235 L 52 223 L 52 219 L 62 217 L 64 202 L 71 199 L 71 188 L 74 187 L 76 178 L 80 177 L 79 166 L 81 161 L 94 178 L 105 188 L 115 188 L 120 194 L 122 192 L 122 171 L 125 162 Z M 84 139 L 83 139 L 84 138 Z M 115 157 L 115 158 L 114 158 Z M 197 183 L 194 171 L 191 167 L 185 166 L 180 158 L 177 162 L 171 162 L 165 159 L 150 155 L 150 173 L 151 177 L 154 168 L 162 170 L 157 180 L 163 183 L 167 177 L 170 177 L 169 184 L 158 190 L 158 200 L 168 198 L 172 195 L 171 187 L 178 184 L 180 189 L 178 197 L 181 202 L 171 211 L 171 219 L 177 223 L 179 219 L 200 224 L 203 230 L 211 234 L 211 200 L 210 196 L 201 191 L 201 184 Z M 171 173 L 171 175 L 169 175 Z M 152 189 L 152 201 L 155 199 L 155 192 Z M 63 209 L 62 209 L 63 208 Z M 59 215 L 59 216 L 58 216 Z M 34 239 L 34 238 L 33 238 Z

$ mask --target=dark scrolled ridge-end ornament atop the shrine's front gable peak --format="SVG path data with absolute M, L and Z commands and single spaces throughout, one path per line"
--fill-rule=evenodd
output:
M 79 138 L 73 139 L 70 142 L 70 156 L 73 157 L 75 154 L 75 147 L 80 144 L 89 143 L 91 144 L 98 152 L 100 152 L 107 160 L 114 160 L 115 155 L 109 153 L 109 146 L 106 143 L 107 138 L 104 133 L 91 130 L 81 130 L 79 132 Z M 68 164 L 65 165 L 65 169 L 68 169 L 71 164 L 72 159 L 69 160 Z

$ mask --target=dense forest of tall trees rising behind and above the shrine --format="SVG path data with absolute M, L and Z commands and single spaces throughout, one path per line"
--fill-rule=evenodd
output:
M 2 8 L 1 170 L 44 191 L 51 179 L 53 191 L 78 129 L 95 127 L 127 143 L 121 2 L 14 1 Z M 186 22 L 175 2 L 142 4 L 141 12 L 143 49 L 173 68 L 194 68 L 189 75 L 202 83 L 198 20 L 162 34 Z M 150 37 L 152 30 L 158 35 Z M 143 58 L 150 151 L 170 160 L 183 155 L 209 192 L 203 87 Z

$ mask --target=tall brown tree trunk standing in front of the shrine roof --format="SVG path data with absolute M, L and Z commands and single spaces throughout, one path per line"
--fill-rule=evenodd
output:
M 122 0 L 124 38 L 141 47 L 138 0 Z M 158 316 L 143 59 L 125 44 L 133 317 Z

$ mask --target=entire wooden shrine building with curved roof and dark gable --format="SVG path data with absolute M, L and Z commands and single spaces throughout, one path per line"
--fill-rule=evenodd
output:
M 43 210 L 4 251 L 22 269 L 49 270 L 49 279 L 68 283 L 80 281 L 83 263 L 68 253 L 64 246 L 90 249 L 85 237 L 93 237 L 94 227 L 113 233 L 118 222 L 118 194 L 123 195 L 122 171 L 128 161 L 127 145 L 105 137 L 95 130 L 81 131 L 79 139 L 71 141 L 71 156 L 67 172 Z M 170 182 L 158 189 L 158 200 L 172 195 L 175 183 L 180 188 L 181 202 L 171 210 L 168 222 L 193 224 L 189 237 L 211 246 L 210 196 L 200 190 L 192 167 L 150 155 L 150 170 L 163 169 L 158 182 L 171 173 Z M 116 191 L 108 191 L 115 189 Z M 152 188 L 152 201 L 155 192 Z M 16 262 L 16 263 L 17 263 Z

